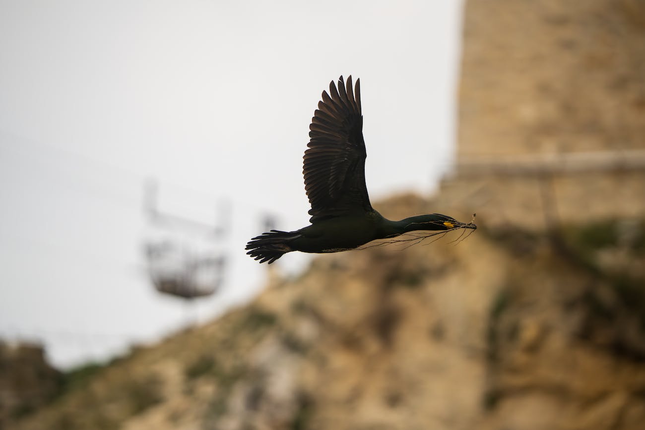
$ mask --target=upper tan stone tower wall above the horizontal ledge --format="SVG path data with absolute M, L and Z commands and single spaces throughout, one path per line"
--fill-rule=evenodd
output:
M 645 1 L 470 0 L 459 158 L 645 149 Z

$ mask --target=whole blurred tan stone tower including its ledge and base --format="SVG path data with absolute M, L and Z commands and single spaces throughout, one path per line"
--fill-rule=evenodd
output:
M 528 228 L 644 217 L 645 0 L 467 0 L 458 118 L 442 205 Z

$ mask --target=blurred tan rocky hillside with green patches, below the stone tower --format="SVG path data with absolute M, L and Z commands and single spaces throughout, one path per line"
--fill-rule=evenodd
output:
M 620 225 L 481 228 L 278 268 L 248 306 L 8 428 L 640 429 L 645 225 Z

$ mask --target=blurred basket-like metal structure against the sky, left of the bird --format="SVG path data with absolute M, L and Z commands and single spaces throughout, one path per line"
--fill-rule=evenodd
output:
M 150 280 L 159 293 L 192 300 L 216 293 L 224 282 L 226 256 L 221 242 L 228 230 L 228 205 L 221 204 L 213 225 L 159 210 L 157 182 L 144 188 L 148 234 L 144 254 Z

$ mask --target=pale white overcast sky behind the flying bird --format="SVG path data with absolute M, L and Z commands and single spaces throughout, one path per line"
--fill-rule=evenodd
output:
M 452 160 L 461 7 L 0 0 L 0 337 L 71 366 L 252 297 L 266 272 L 244 244 L 263 213 L 308 224 L 308 127 L 341 74 L 361 78 L 372 200 L 432 191 Z M 231 205 L 226 280 L 197 309 L 146 278 L 148 177 L 177 215 Z

